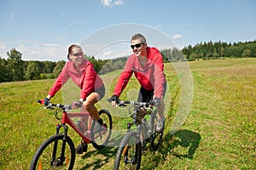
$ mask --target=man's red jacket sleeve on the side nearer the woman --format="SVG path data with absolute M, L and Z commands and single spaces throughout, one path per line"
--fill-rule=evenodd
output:
M 117 95 L 118 97 L 125 89 L 127 83 L 129 82 L 131 76 L 132 76 L 132 59 L 131 56 L 127 59 L 125 68 L 123 72 L 121 73 L 119 80 L 117 84 L 115 85 L 115 88 L 113 90 L 113 95 Z

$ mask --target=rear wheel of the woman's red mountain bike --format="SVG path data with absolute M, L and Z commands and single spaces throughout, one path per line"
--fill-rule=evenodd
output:
M 90 133 L 90 139 L 91 144 L 97 149 L 102 150 L 107 144 L 110 139 L 111 133 L 112 133 L 112 116 L 107 110 L 101 110 L 99 111 L 99 115 L 102 118 L 103 121 L 103 127 L 106 128 L 105 133 L 94 133 L 94 127 L 96 126 L 96 122 L 93 121 L 91 125 L 91 133 Z

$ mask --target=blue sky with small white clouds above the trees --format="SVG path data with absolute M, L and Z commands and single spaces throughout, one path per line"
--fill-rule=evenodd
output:
M 199 42 L 256 39 L 255 0 L 0 0 L 0 57 L 67 59 L 67 48 L 108 58 L 131 54 L 133 33 L 148 45 L 183 48 Z

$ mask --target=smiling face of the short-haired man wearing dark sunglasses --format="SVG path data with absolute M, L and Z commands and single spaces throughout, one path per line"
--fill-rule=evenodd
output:
M 141 39 L 131 40 L 131 48 L 136 56 L 147 57 L 147 42 L 143 42 Z

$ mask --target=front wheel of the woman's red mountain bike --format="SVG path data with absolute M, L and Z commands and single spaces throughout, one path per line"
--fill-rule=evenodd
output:
M 64 142 L 64 143 L 63 143 Z M 53 148 L 56 145 L 56 153 L 54 154 Z M 61 159 L 61 150 L 65 145 L 65 160 Z M 69 146 L 69 151 L 68 150 Z M 53 157 L 55 155 L 55 158 Z M 35 155 L 32 158 L 29 169 L 68 169 L 72 170 L 75 162 L 75 146 L 72 139 L 68 136 L 64 139 L 64 134 L 55 134 L 49 139 L 45 140 L 43 144 L 38 148 Z

